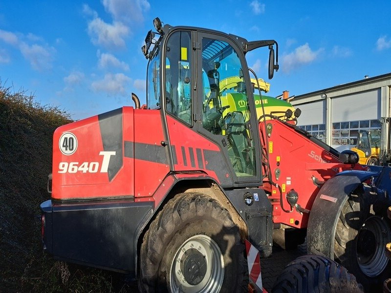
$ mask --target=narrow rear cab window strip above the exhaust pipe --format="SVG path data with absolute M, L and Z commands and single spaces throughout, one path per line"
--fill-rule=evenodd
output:
M 160 54 L 158 50 L 148 63 L 147 73 L 147 106 L 149 109 L 160 108 Z

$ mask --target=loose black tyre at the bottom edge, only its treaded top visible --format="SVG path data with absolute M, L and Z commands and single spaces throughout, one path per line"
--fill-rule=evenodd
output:
M 363 287 L 354 275 L 333 260 L 303 255 L 291 261 L 278 276 L 272 293 L 360 293 Z

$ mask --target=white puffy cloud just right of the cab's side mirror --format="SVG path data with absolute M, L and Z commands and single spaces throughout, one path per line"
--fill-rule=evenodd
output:
M 282 71 L 289 72 L 302 64 L 313 62 L 323 49 L 312 51 L 308 43 L 297 47 L 294 52 L 282 56 Z

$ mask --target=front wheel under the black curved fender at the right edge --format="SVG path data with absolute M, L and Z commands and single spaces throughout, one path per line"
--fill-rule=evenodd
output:
M 373 215 L 369 199 L 358 193 L 349 195 L 341 210 L 334 260 L 354 274 L 366 290 L 380 290 L 390 267 L 385 255 L 390 229 L 382 218 Z

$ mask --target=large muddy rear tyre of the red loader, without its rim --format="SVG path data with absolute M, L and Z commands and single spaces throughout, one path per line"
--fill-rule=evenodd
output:
M 233 222 L 229 211 L 224 209 L 217 200 L 202 193 L 188 192 L 177 194 L 173 199 L 169 200 L 152 221 L 149 230 L 144 235 L 140 253 L 140 275 L 142 277 L 139 278 L 139 289 L 141 292 L 155 292 L 157 287 L 158 292 L 166 292 L 167 289 L 161 286 L 162 277 L 160 276 L 160 273 L 167 273 L 167 270 L 161 271 L 162 266 L 164 267 L 162 265 L 164 255 L 173 235 L 181 231 L 181 229 L 186 229 L 187 225 L 192 223 L 192 219 L 215 221 L 220 223 L 219 225 L 223 229 L 232 230 L 230 234 L 234 236 L 231 237 L 233 246 L 229 255 L 236 256 L 237 266 L 240 268 L 231 270 L 236 276 L 234 281 L 232 281 L 232 277 L 228 277 L 229 271 L 226 273 L 229 283 L 235 284 L 235 279 L 237 278 L 237 289 L 234 289 L 233 287 L 235 286 L 231 284 L 229 288 L 222 288 L 221 292 L 239 290 L 238 288 L 245 272 L 244 245 L 240 241 L 239 227 Z M 163 279 L 166 279 L 166 276 L 163 276 Z

